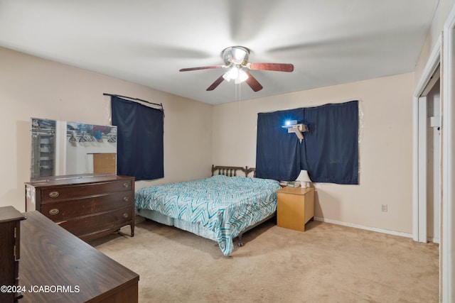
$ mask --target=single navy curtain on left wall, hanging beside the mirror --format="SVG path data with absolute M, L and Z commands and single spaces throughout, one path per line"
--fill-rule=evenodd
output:
M 164 177 L 164 111 L 111 97 L 117 126 L 117 174 L 136 180 Z

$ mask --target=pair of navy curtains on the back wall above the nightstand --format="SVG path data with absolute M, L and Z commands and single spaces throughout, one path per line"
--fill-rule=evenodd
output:
M 286 119 L 304 123 L 301 142 Z M 358 184 L 358 101 L 261 113 L 257 117 L 257 177 L 296 180 L 308 170 L 313 182 Z

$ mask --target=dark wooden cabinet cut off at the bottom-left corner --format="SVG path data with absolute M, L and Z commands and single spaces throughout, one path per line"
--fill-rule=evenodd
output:
M 23 219 L 26 217 L 13 206 L 0 207 L 0 302 L 16 302 L 22 297 L 17 286 Z

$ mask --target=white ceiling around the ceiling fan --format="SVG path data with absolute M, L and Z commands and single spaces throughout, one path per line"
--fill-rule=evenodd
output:
M 437 4 L 0 0 L 0 46 L 221 104 L 412 72 Z M 232 82 L 207 92 L 222 70 L 178 72 L 222 65 L 221 51 L 232 45 L 250 48 L 250 62 L 292 63 L 294 72 L 251 71 L 259 92 Z

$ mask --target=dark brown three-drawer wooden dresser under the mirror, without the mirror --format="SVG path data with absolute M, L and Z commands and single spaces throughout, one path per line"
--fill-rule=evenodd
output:
M 123 226 L 134 236 L 134 177 L 83 175 L 26 183 L 26 211 L 37 210 L 84 241 Z

